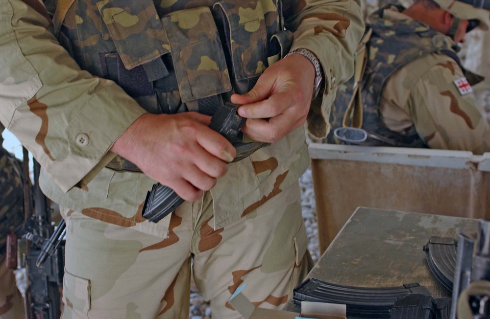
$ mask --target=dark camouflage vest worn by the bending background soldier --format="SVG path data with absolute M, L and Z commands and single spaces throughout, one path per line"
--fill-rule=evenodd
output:
M 383 12 L 388 7 L 393 6 L 381 8 L 368 18 L 367 28 L 372 29 L 372 35 L 367 44 L 368 61 L 360 85 L 363 101 L 362 128 L 385 137 L 392 143 L 368 139 L 362 145 L 424 148 L 427 144 L 418 136 L 415 125 L 403 133 L 394 132 L 385 125 L 379 111 L 381 94 L 386 83 L 397 70 L 428 54 L 446 54 L 460 66 L 461 63 L 452 48 L 454 43 L 445 35 L 413 19 L 388 21 L 383 18 Z M 400 12 L 404 10 L 402 6 L 395 7 Z M 418 79 L 407 80 L 413 81 L 415 85 Z M 326 138 L 328 143 L 343 143 L 333 136 L 333 129 L 343 126 L 343 116 L 352 96 L 353 85 L 352 78 L 337 92 L 330 114 L 332 130 Z

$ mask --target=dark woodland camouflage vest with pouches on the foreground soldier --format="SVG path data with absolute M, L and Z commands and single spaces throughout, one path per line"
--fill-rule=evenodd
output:
M 293 34 L 280 0 L 75 0 L 58 40 L 149 113 L 212 115 L 232 93 L 252 89 Z M 268 145 L 239 138 L 234 145 L 246 152 Z M 119 156 L 108 167 L 139 171 Z

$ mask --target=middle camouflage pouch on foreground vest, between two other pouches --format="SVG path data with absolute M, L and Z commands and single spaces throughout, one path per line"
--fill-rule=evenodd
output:
M 231 91 L 218 30 L 208 7 L 162 18 L 183 103 Z

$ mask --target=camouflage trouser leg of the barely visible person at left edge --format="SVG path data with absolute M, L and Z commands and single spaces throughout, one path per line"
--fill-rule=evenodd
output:
M 15 275 L 0 262 L 0 319 L 25 318 L 24 298 L 15 283 Z

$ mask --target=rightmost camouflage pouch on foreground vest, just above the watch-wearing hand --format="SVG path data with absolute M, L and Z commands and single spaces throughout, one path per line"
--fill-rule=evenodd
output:
M 230 56 L 233 87 L 244 94 L 268 66 L 264 10 L 261 2 L 228 0 L 215 3 L 213 11 Z

